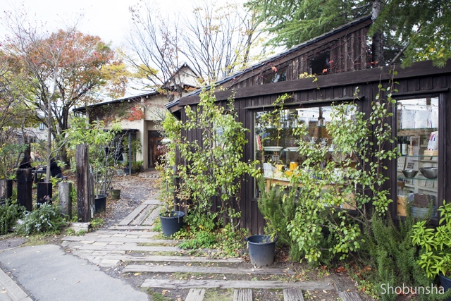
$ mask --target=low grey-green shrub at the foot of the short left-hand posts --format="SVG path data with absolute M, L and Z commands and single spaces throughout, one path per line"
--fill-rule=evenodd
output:
M 35 204 L 34 210 L 25 214 L 19 233 L 30 235 L 32 233 L 59 233 L 66 221 L 60 215 L 58 206 L 42 204 L 39 208 Z

